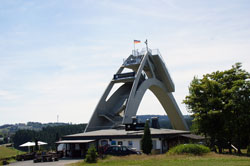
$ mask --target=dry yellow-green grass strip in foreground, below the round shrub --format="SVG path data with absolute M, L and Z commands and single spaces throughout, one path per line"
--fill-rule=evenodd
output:
M 126 157 L 109 157 L 99 160 L 96 164 L 79 162 L 74 166 L 250 166 L 249 157 L 238 157 L 232 155 L 218 155 L 209 153 L 204 156 L 190 155 L 141 155 Z

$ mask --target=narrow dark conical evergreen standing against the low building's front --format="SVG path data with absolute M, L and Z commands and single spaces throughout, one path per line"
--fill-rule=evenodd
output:
M 144 127 L 144 135 L 142 136 L 142 140 L 141 140 L 142 152 L 145 154 L 150 154 L 152 147 L 153 147 L 153 144 L 152 144 L 152 137 L 151 137 L 150 128 L 149 128 L 149 122 L 146 121 L 146 124 Z

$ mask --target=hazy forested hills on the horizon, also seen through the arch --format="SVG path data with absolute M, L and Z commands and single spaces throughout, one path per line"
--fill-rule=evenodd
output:
M 173 128 L 167 115 L 137 115 L 138 122 L 142 123 L 145 123 L 147 119 L 151 119 L 152 117 L 158 117 L 159 125 L 161 128 L 167 128 L 167 129 Z M 188 127 L 190 128 L 192 125 L 193 118 L 189 115 L 184 115 L 184 119 L 187 122 Z M 51 146 L 54 146 L 53 141 L 55 141 L 56 139 L 55 133 L 58 133 L 57 137 L 61 137 L 67 134 L 83 132 L 86 125 L 87 125 L 86 123 L 73 125 L 70 123 L 40 123 L 40 122 L 28 122 L 27 124 L 25 123 L 6 124 L 0 126 L 0 144 L 12 142 L 13 139 L 15 138 L 14 142 L 15 145 L 17 146 L 19 145 L 19 143 L 30 141 L 35 136 L 37 136 L 38 138 L 43 138 L 38 135 L 47 135 L 46 138 L 43 138 L 43 140 L 48 141 Z M 21 131 L 21 135 L 25 139 L 23 140 L 20 139 L 21 135 L 20 133 L 17 133 L 18 131 Z M 53 135 L 51 135 L 51 133 Z

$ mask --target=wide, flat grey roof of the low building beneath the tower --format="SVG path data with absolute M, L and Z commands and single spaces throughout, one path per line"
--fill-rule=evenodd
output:
M 182 130 L 173 130 L 173 129 L 154 129 L 150 128 L 151 135 L 176 135 L 176 134 L 189 134 L 189 131 L 182 131 Z M 105 129 L 105 130 L 96 130 L 90 131 L 85 133 L 78 133 L 64 136 L 65 139 L 70 139 L 74 137 L 77 138 L 98 138 L 98 137 L 138 137 L 144 134 L 143 130 L 139 131 L 126 131 L 126 130 L 118 130 L 118 129 Z

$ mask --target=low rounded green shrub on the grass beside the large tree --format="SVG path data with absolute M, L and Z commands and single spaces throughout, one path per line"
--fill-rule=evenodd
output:
M 202 155 L 210 152 L 210 149 L 204 145 L 199 144 L 181 144 L 169 150 L 169 154 L 194 154 Z

